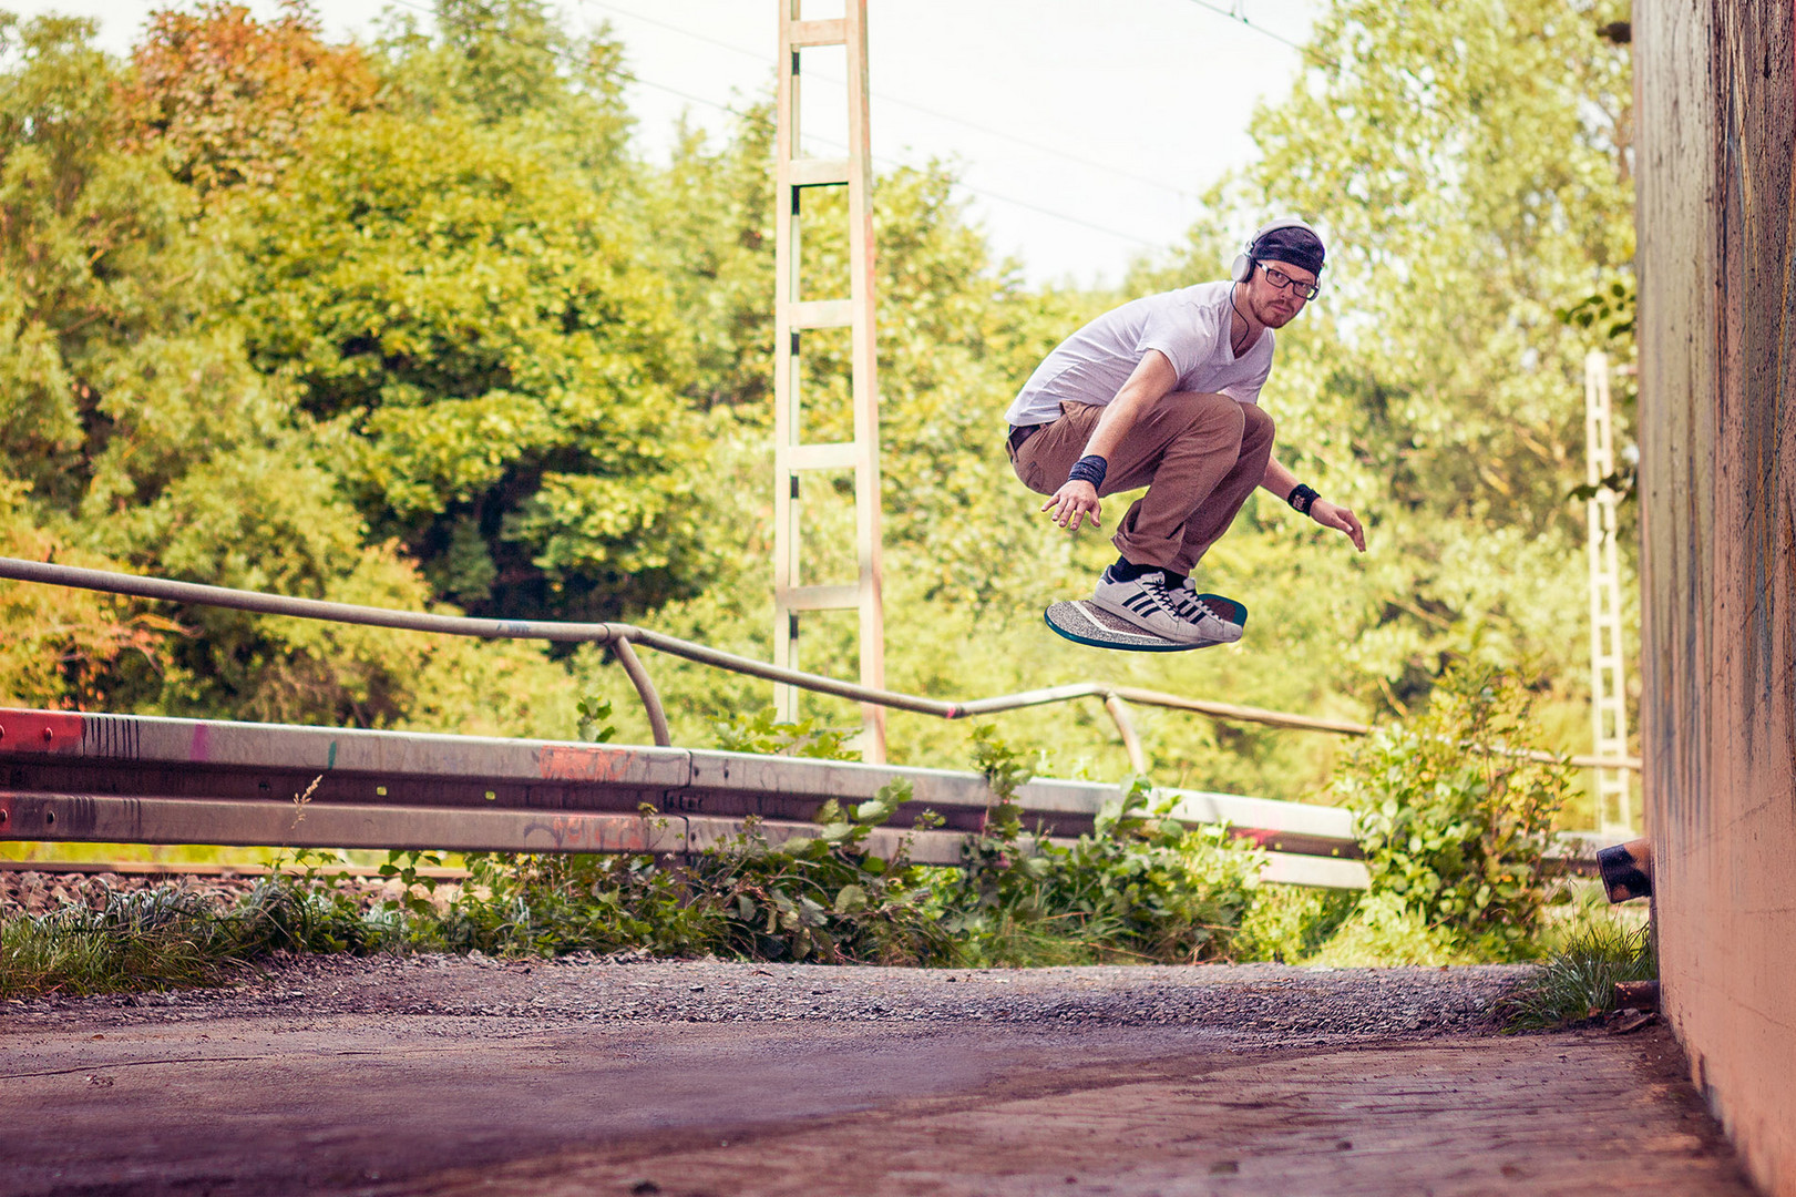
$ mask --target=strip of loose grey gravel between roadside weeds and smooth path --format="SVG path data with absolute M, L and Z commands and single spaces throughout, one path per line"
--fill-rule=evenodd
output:
M 183 1021 L 300 1014 L 506 1017 L 542 1023 L 1024 1023 L 1216 1026 L 1297 1044 L 1492 1030 L 1525 967 L 1284 965 L 875 969 L 577 953 L 553 962 L 420 954 L 289 956 L 228 989 L 0 1005 L 9 1023 Z

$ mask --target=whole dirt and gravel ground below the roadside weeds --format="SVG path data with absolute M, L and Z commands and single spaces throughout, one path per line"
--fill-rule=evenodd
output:
M 1510 971 L 302 962 L 14 1005 L 0 1192 L 1748 1193 L 1670 1039 Z

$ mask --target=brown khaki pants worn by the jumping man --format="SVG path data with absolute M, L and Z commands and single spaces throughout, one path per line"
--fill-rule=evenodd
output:
M 1060 419 L 1011 453 L 1017 476 L 1036 494 L 1052 494 L 1085 457 L 1103 408 L 1065 401 Z M 1228 395 L 1176 390 L 1162 397 L 1117 448 L 1099 498 L 1148 487 L 1110 537 L 1133 564 L 1191 573 L 1234 523 L 1241 503 L 1266 476 L 1272 417 Z

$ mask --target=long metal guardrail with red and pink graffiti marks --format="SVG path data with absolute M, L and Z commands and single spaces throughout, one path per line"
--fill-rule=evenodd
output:
M 695 854 L 758 816 L 769 839 L 815 834 L 823 802 L 911 782 L 889 856 L 955 864 L 991 793 L 975 773 L 684 748 L 0 710 L 0 839 L 496 852 Z M 1026 825 L 1092 829 L 1115 785 L 1033 780 Z M 1228 823 L 1268 850 L 1266 881 L 1363 888 L 1336 807 L 1173 791 L 1175 816 Z M 654 814 L 641 811 L 643 803 Z M 905 832 L 932 811 L 936 830 Z

